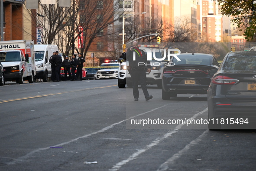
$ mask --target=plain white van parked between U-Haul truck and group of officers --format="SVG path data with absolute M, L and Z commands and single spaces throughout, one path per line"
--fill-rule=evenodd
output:
M 49 62 L 53 52 L 58 51 L 57 45 L 35 45 L 36 78 L 44 82 L 52 76 L 51 63 Z

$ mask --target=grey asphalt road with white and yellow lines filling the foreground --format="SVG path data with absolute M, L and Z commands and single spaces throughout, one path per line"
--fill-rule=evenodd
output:
M 6 82 L 0 171 L 255 170 L 255 130 L 187 126 L 207 119 L 206 95 L 162 100 L 161 89 L 148 90 L 152 100 L 140 90 L 135 102 L 115 79 Z

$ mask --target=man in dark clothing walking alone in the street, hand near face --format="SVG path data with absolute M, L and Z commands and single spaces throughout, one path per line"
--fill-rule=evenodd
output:
M 135 60 L 133 59 L 133 52 L 135 53 Z M 129 61 L 129 72 L 133 81 L 134 101 L 139 101 L 139 83 L 143 90 L 146 101 L 152 99 L 153 97 L 149 95 L 146 85 L 146 69 L 147 72 L 150 73 L 151 66 L 149 61 L 147 61 L 145 52 L 138 48 L 138 42 L 133 42 L 133 46 L 128 49 L 126 59 Z

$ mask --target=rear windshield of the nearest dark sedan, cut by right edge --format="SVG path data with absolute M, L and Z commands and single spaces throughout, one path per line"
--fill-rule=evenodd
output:
M 256 70 L 256 54 L 230 54 L 223 64 L 227 70 Z

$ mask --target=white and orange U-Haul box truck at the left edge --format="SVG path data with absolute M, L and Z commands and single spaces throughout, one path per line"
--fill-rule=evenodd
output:
M 11 40 L 0 42 L 0 62 L 3 65 L 5 81 L 24 80 L 33 83 L 36 76 L 33 40 Z

